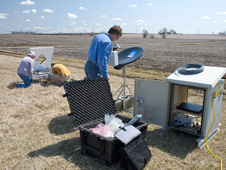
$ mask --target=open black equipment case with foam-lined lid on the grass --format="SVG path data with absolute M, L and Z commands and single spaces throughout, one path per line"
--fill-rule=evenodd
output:
M 115 102 L 112 97 L 107 78 L 85 79 L 65 83 L 64 89 L 71 114 L 76 126 L 80 130 L 81 150 L 96 156 L 106 165 L 111 165 L 120 159 L 119 148 L 123 145 L 116 138 L 106 138 L 92 133 L 89 129 L 104 123 L 105 114 L 115 114 Z M 116 114 L 123 123 L 131 118 Z M 146 138 L 147 123 L 137 122 L 134 125 Z

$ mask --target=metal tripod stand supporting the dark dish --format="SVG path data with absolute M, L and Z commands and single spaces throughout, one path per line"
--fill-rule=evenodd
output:
M 126 66 L 123 66 L 123 85 L 121 85 L 121 87 L 115 92 L 114 96 L 119 93 L 118 97 L 116 98 L 116 102 L 118 101 L 119 97 L 121 96 L 122 92 L 123 92 L 123 96 L 122 96 L 122 101 L 123 101 L 123 110 L 126 109 L 126 102 L 125 102 L 125 99 L 126 99 L 126 88 L 129 90 L 130 94 L 132 94 L 133 96 L 133 93 L 132 91 L 130 90 L 130 88 L 126 85 Z

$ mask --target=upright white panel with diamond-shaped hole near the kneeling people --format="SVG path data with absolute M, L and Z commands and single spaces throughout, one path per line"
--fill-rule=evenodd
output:
M 30 50 L 34 51 L 36 56 L 34 60 L 34 71 L 50 71 L 54 47 L 37 47 L 30 48 Z M 37 59 L 41 56 L 45 57 L 46 59 L 42 63 L 39 63 Z

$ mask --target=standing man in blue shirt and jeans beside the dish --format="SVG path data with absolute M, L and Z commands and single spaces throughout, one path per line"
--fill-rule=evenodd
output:
M 122 28 L 114 25 L 105 34 L 96 35 L 90 45 L 87 62 L 85 64 L 86 78 L 95 79 L 98 76 L 107 77 L 108 74 L 107 64 L 112 50 L 112 42 L 122 36 Z

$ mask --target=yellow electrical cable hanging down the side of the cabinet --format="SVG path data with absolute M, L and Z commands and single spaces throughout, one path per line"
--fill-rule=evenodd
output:
M 220 159 L 220 161 L 221 161 L 220 168 L 221 168 L 221 170 L 222 170 L 222 164 L 223 164 L 222 159 L 221 159 L 219 156 L 215 155 L 215 154 L 209 149 L 209 146 L 208 146 L 208 136 L 209 136 L 209 132 L 210 132 L 210 130 L 211 130 L 211 128 L 212 128 L 212 126 L 213 126 L 213 124 L 214 124 L 214 122 L 215 122 L 215 117 L 216 117 L 216 115 L 215 115 L 215 110 L 214 110 L 214 98 L 218 97 L 218 96 L 220 95 L 220 93 L 221 93 L 221 86 L 220 86 L 219 83 L 218 83 L 218 86 L 219 86 L 219 90 L 216 90 L 216 91 L 215 91 L 215 93 L 214 93 L 214 95 L 213 95 L 213 99 L 212 99 L 212 108 L 213 108 L 214 120 L 213 120 L 213 123 L 212 123 L 211 126 L 210 126 L 210 129 L 209 129 L 208 133 L 207 133 L 207 137 L 206 137 L 206 147 L 207 147 L 208 151 L 209 151 L 213 156 L 215 156 L 216 158 Z

